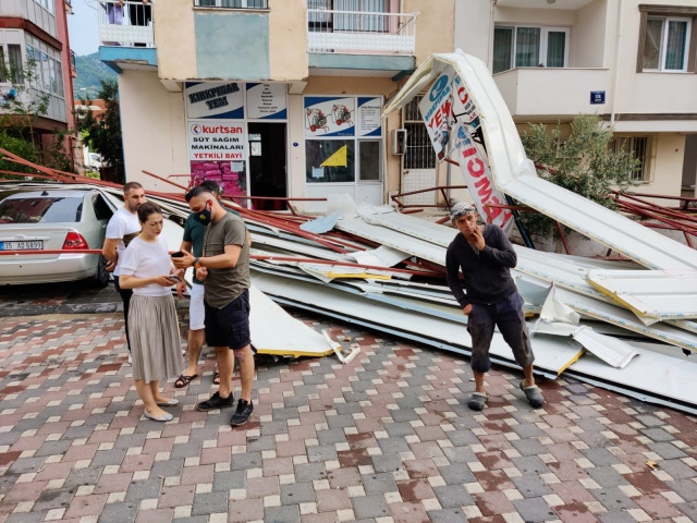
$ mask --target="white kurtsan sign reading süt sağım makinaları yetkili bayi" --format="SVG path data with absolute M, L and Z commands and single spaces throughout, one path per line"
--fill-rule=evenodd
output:
M 245 127 L 240 122 L 189 121 L 188 158 L 191 160 L 231 160 L 247 158 Z

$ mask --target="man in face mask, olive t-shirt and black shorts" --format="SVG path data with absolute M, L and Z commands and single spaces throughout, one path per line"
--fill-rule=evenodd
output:
M 247 229 L 239 216 L 228 212 L 206 187 L 194 187 L 185 196 L 194 218 L 206 226 L 203 256 L 183 251 L 172 258 L 178 269 L 194 267 L 204 282 L 206 343 L 216 348 L 220 388 L 199 411 L 234 405 L 232 394 L 233 353 L 240 362 L 241 398 L 230 419 L 232 426 L 247 423 L 254 405 L 254 355 L 249 337 L 249 243 Z

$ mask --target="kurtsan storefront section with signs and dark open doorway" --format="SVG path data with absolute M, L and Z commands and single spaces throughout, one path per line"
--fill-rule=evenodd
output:
M 288 195 L 285 84 L 187 83 L 184 98 L 192 184 L 215 180 L 241 203 L 278 208 L 244 197 Z

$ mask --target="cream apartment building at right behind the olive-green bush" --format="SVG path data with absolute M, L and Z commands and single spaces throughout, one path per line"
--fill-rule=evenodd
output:
M 597 113 L 641 160 L 637 191 L 695 195 L 695 0 L 464 0 L 455 25 L 519 130 Z

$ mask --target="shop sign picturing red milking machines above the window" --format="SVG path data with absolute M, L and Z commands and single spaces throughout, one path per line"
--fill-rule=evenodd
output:
M 305 97 L 305 137 L 354 136 L 355 98 Z

